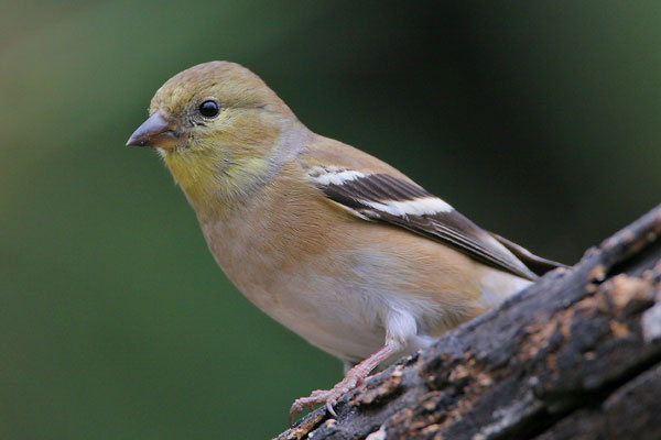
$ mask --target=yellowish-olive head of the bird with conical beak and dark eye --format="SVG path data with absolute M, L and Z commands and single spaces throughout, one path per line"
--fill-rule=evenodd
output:
M 268 178 L 303 125 L 252 72 L 228 62 L 191 67 L 156 91 L 127 145 L 159 150 L 191 201 L 231 197 Z

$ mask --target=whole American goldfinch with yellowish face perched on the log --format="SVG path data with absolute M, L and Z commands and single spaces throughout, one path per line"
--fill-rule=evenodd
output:
M 209 250 L 257 307 L 339 358 L 338 398 L 375 367 L 497 306 L 559 263 L 477 227 L 392 166 L 308 130 L 228 62 L 169 79 L 127 145 L 152 146 Z

